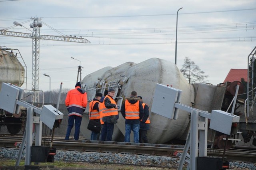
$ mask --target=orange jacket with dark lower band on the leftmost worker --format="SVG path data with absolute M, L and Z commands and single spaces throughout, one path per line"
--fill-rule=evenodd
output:
M 87 93 L 77 86 L 76 89 L 68 91 L 65 105 L 68 109 L 68 116 L 82 117 L 87 105 Z

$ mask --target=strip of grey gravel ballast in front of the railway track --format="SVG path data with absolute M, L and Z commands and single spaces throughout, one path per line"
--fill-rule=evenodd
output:
M 0 148 L 1 159 L 14 159 L 18 157 L 17 148 Z M 25 159 L 25 150 L 22 153 L 22 159 Z M 98 162 L 112 164 L 129 164 L 140 166 L 160 166 L 160 167 L 178 167 L 180 158 L 168 156 L 145 156 L 135 154 L 120 153 L 98 153 L 98 152 L 78 152 L 57 150 L 54 161 L 69 162 Z M 246 162 L 230 162 L 230 169 L 248 169 L 256 170 L 256 164 Z

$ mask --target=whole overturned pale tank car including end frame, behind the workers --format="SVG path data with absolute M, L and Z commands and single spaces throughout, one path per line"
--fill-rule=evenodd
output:
M 119 108 L 121 108 L 125 97 L 130 96 L 132 91 L 136 91 L 138 95 L 142 96 L 143 102 L 147 103 L 150 109 L 151 124 L 147 134 L 148 140 L 155 144 L 163 144 L 174 138 L 186 140 L 188 130 L 190 130 L 190 114 L 188 112 L 180 111 L 177 120 L 151 112 L 157 83 L 171 85 L 182 90 L 180 103 L 209 112 L 212 109 L 220 109 L 225 93 L 225 88 L 206 84 L 189 84 L 174 63 L 159 58 L 151 58 L 141 63 L 127 62 L 114 68 L 105 67 L 86 75 L 82 82 L 86 85 L 88 99 L 93 99 L 96 92 L 103 94 L 104 90 L 110 87 L 116 89 L 114 99 Z M 213 104 L 214 101 L 216 102 Z M 86 113 L 88 113 L 88 109 L 89 104 Z M 120 109 L 118 110 L 120 111 Z M 118 123 L 114 127 L 113 141 L 122 141 L 120 139 L 125 134 L 124 121 L 119 112 Z M 87 139 L 90 139 L 91 131 L 87 129 L 87 125 L 88 114 L 85 114 L 80 131 Z M 132 134 L 131 142 L 133 142 Z

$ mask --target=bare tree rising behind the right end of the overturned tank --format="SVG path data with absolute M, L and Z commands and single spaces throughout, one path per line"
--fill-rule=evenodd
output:
M 188 80 L 188 83 L 206 83 L 205 80 L 208 75 L 204 75 L 204 71 L 201 71 L 198 65 L 191 61 L 188 57 L 185 57 L 184 64 L 180 69 L 180 72 Z

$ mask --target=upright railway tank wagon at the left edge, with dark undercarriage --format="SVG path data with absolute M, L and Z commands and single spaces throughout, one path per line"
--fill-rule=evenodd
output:
M 2 83 L 11 83 L 21 87 L 26 78 L 26 69 L 19 61 L 24 63 L 18 49 L 0 47 L 0 89 Z M 8 132 L 17 134 L 20 132 L 26 117 L 22 110 L 20 114 L 10 114 L 0 109 L 0 126 L 7 126 Z

